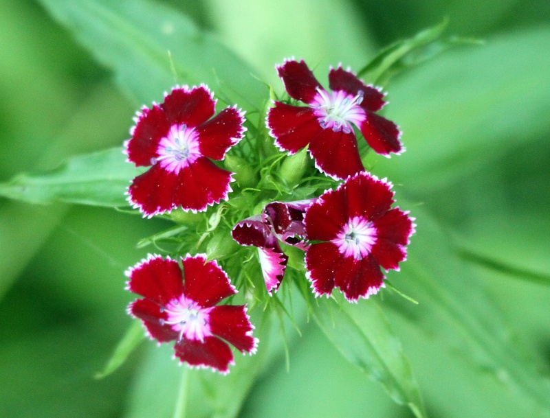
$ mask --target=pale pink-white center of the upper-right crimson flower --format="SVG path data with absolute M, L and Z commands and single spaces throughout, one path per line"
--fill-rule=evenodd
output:
M 334 132 L 349 134 L 353 129 L 351 124 L 360 126 L 365 119 L 365 111 L 359 106 L 363 101 L 363 91 L 352 96 L 343 90 L 327 92 L 320 88 L 311 106 L 316 109 L 316 115 L 321 128 L 330 128 Z

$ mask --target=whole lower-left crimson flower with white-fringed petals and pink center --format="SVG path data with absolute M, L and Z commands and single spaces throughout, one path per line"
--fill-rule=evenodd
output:
M 175 357 L 192 367 L 229 372 L 234 364 L 228 342 L 241 353 L 255 353 L 258 340 L 246 305 L 217 305 L 236 294 L 228 276 L 206 255 L 181 259 L 149 255 L 126 271 L 128 290 L 140 294 L 128 312 L 140 318 L 148 336 L 159 342 L 175 340 Z M 185 277 L 185 279 L 184 279 Z

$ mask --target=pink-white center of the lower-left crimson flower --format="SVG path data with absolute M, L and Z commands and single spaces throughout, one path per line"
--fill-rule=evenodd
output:
M 171 325 L 175 332 L 179 332 L 179 340 L 185 337 L 203 341 L 212 335 L 209 323 L 211 309 L 199 306 L 182 294 L 179 299 L 172 299 L 161 308 L 161 312 L 166 312 L 166 319 L 161 319 L 160 324 Z

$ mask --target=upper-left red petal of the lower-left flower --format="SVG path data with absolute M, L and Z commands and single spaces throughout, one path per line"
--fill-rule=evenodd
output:
M 151 299 L 159 306 L 166 305 L 184 292 L 181 269 L 173 259 L 150 255 L 144 262 L 129 268 L 126 275 L 130 278 L 128 290 Z

